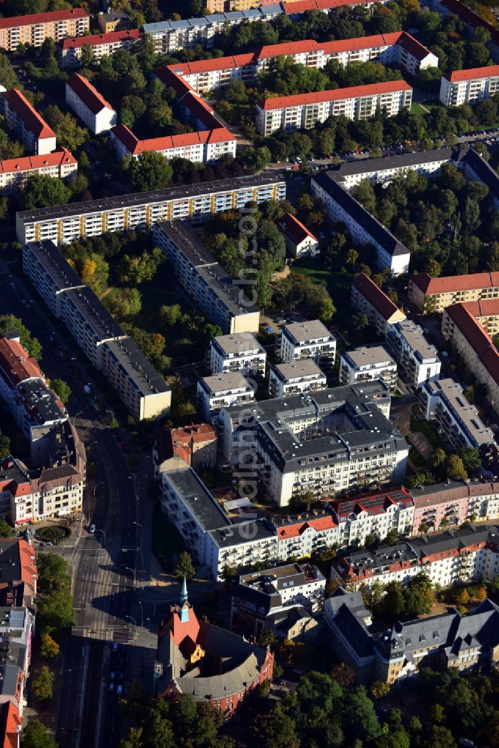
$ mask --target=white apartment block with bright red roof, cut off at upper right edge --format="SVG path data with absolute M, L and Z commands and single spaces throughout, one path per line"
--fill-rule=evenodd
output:
M 453 70 L 441 78 L 440 100 L 444 106 L 460 106 L 492 99 L 498 91 L 499 65 Z

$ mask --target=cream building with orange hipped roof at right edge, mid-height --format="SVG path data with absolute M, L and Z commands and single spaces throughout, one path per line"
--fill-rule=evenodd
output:
M 432 278 L 418 273 L 409 278 L 408 297 L 423 314 L 441 313 L 451 304 L 499 298 L 499 272 Z

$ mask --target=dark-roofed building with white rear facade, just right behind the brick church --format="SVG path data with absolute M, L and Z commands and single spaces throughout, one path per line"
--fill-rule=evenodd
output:
M 272 566 L 241 574 L 232 587 L 230 630 L 257 641 L 263 631 L 309 642 L 317 635 L 311 613 L 322 610 L 325 577 L 310 563 Z M 290 620 L 291 619 L 291 620 Z

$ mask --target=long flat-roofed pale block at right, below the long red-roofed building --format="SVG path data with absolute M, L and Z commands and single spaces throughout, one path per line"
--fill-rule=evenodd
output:
M 484 425 L 478 408 L 468 402 L 454 379 L 424 382 L 419 405 L 426 420 L 436 420 L 456 452 L 462 447 L 495 444 L 494 432 Z

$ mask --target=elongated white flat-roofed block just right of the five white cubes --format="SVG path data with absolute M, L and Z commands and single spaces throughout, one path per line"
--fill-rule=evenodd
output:
M 394 358 L 414 387 L 420 389 L 425 381 L 437 381 L 441 360 L 437 349 L 424 337 L 419 325 L 406 319 L 388 325 L 386 342 Z

